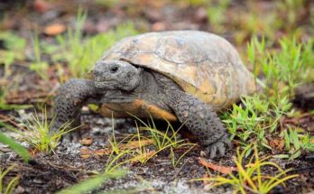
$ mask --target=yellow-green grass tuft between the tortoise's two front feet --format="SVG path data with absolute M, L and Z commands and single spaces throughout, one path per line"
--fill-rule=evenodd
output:
M 179 140 L 177 134 L 179 130 L 175 131 L 168 121 L 166 132 L 163 133 L 162 130 L 156 128 L 152 117 L 147 123 L 136 116 L 134 118 L 143 126 L 139 126 L 135 121 L 137 133 L 126 135 L 119 141 L 115 138 L 113 122 L 113 134 L 108 136 L 111 152 L 106 161 L 106 172 L 115 171 L 116 168 L 128 162 L 145 164 L 159 152 L 168 152 L 172 166 L 176 167 L 184 156 L 196 146 L 195 143 L 184 143 L 184 140 Z M 169 133 L 170 131 L 172 134 Z M 179 149 L 185 151 L 177 154 Z

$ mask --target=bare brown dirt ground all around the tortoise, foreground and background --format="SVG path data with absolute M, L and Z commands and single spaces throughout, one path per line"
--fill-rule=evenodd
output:
M 133 2 L 133 3 L 131 3 Z M 1 23 L 2 31 L 13 31 L 32 42 L 33 31 L 36 29 L 39 38 L 46 42 L 55 42 L 54 38 L 45 33 L 45 27 L 51 23 L 63 23 L 70 28 L 75 27 L 76 11 L 78 6 L 88 8 L 88 17 L 84 25 L 84 35 L 93 35 L 115 28 L 119 23 L 133 21 L 137 29 L 141 31 L 164 31 L 164 30 L 182 30 L 193 29 L 203 31 L 213 31 L 213 26 L 208 22 L 206 10 L 202 6 L 190 6 L 187 3 L 178 5 L 166 3 L 166 1 L 129 1 L 122 2 L 118 5 L 97 5 L 88 3 L 88 1 L 60 1 L 53 4 L 51 1 L 1 1 L 0 17 L 5 18 Z M 272 1 L 256 1 L 256 6 L 267 10 L 272 7 Z M 309 3 L 311 9 L 314 4 Z M 240 12 L 248 9 L 247 1 L 232 1 L 229 12 Z M 231 14 L 232 15 L 232 14 Z M 302 15 L 301 15 L 302 16 Z M 309 16 L 309 15 L 308 15 Z M 262 17 L 262 16 L 261 16 Z M 307 15 L 303 15 L 307 17 Z M 300 25 L 307 27 L 307 21 L 300 19 Z M 235 26 L 229 26 L 226 23 L 226 30 L 222 35 L 230 42 L 235 43 L 239 50 L 244 50 L 245 43 L 237 43 L 233 31 Z M 280 37 L 282 32 L 277 32 L 275 36 Z M 313 34 L 305 33 L 304 39 Z M 241 41 L 245 42 L 250 39 L 249 35 L 242 35 Z M 0 48 L 4 47 L 0 42 Z M 47 103 L 51 108 L 51 98 L 56 90 L 60 87 L 59 80 L 55 75 L 55 64 L 51 64 L 50 56 L 42 56 L 42 60 L 50 62 L 48 78 L 50 84 L 43 81 L 41 77 L 28 69 L 28 61 L 33 60 L 32 44 L 27 45 L 27 54 L 24 60 L 18 60 L 11 66 L 12 77 L 9 79 L 16 80 L 17 86 L 7 98 L 8 103 L 12 104 L 32 104 Z M 0 76 L 4 75 L 5 69 L 0 66 Z M 67 70 L 65 70 L 67 72 Z M 313 97 L 307 96 L 307 91 L 313 91 L 312 85 L 300 88 L 294 100 L 294 106 L 307 113 L 313 110 Z M 304 92 L 306 91 L 306 92 Z M 14 115 L 16 117 L 26 116 L 32 109 L 22 111 L 1 110 L 0 115 Z M 2 119 L 4 119 L 2 117 Z M 88 158 L 82 157 L 82 148 L 90 151 L 97 151 L 104 147 L 109 147 L 107 134 L 112 133 L 111 118 L 103 118 L 88 108 L 85 108 L 81 118 L 82 123 L 88 125 L 89 130 L 85 130 L 82 138 L 91 138 L 91 145 L 82 143 L 71 143 L 63 141 L 55 153 L 44 154 L 36 153 L 34 158 L 28 164 L 24 163 L 5 145 L 0 144 L 0 167 L 6 168 L 12 164 L 17 164 L 14 171 L 11 171 L 5 180 L 19 174 L 21 179 L 14 193 L 53 193 L 57 190 L 73 185 L 80 180 L 85 180 L 93 174 L 93 171 L 103 171 L 106 166 L 108 155 L 90 154 Z M 308 129 L 309 133 L 314 133 L 314 116 L 304 115 L 298 120 L 287 118 L 284 122 L 300 125 Z M 162 124 L 161 124 L 162 125 Z M 162 127 L 161 127 L 162 128 Z M 9 136 L 14 133 L 5 128 L 4 131 Z M 115 135 L 117 138 L 123 137 L 124 134 L 136 134 L 133 119 L 115 119 Z M 184 134 L 180 134 L 182 139 L 189 142 Z M 180 155 L 186 150 L 176 150 Z M 217 171 L 207 170 L 199 163 L 202 157 L 203 148 L 197 146 L 188 152 L 176 167 L 173 167 L 170 159 L 170 152 L 160 152 L 146 163 L 130 162 L 124 165 L 129 173 L 125 178 L 120 180 L 109 180 L 100 189 L 93 191 L 97 193 L 103 190 L 112 189 L 130 189 L 140 187 L 141 193 L 231 193 L 230 187 L 220 187 L 217 189 L 207 190 L 203 181 L 191 181 L 192 179 L 202 178 L 208 171 L 217 174 Z M 269 154 L 265 152 L 265 154 Z M 228 151 L 223 158 L 209 160 L 218 165 L 235 166 L 232 156 L 235 155 L 235 148 Z M 300 176 L 293 180 L 288 180 L 286 187 L 279 186 L 272 190 L 272 193 L 309 193 L 314 192 L 314 155 L 313 153 L 304 152 L 300 158 L 288 161 L 281 159 L 272 159 L 272 162 L 278 163 L 283 169 L 293 169 L 290 174 L 298 173 Z M 275 173 L 272 169 L 264 169 L 270 174 Z

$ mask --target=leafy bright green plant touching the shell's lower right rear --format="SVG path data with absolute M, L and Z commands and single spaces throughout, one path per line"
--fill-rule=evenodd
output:
M 282 98 L 280 104 L 276 105 L 259 95 L 254 97 L 243 97 L 242 105 L 233 105 L 231 112 L 227 112 L 224 122 L 232 134 L 237 136 L 244 146 L 250 141 L 256 141 L 259 148 L 268 145 L 266 134 L 274 134 L 278 128 L 282 115 L 291 108 L 288 98 Z

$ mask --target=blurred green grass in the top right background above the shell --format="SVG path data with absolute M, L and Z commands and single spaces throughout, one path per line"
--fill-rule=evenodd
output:
M 313 24 L 309 15 L 308 0 L 274 1 L 268 8 L 263 8 L 257 1 L 247 1 L 245 6 L 230 5 L 230 1 L 208 1 L 203 7 L 207 9 L 208 23 L 212 32 L 233 33 L 235 42 L 241 46 L 254 36 L 265 36 L 269 42 L 276 42 L 278 36 L 295 34 L 300 38 L 306 32 L 307 20 Z M 307 10 L 308 9 L 308 10 Z

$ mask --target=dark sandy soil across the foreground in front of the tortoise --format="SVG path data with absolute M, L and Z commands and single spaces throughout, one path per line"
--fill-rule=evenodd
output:
M 88 121 L 88 123 L 94 123 L 94 125 L 90 125 L 92 130 L 86 131 L 83 135 L 94 140 L 94 143 L 88 149 L 96 151 L 104 148 L 104 146 L 108 147 L 105 130 L 108 131 L 107 133 L 110 133 L 110 119 L 105 119 L 104 121 L 103 118 L 96 115 L 84 115 L 83 119 Z M 115 134 L 117 139 L 124 132 L 129 132 L 130 128 L 133 127 L 129 122 L 125 123 L 124 119 L 117 120 L 117 126 L 121 127 L 121 130 L 116 132 L 118 134 Z M 98 127 L 101 127 L 102 130 L 98 131 Z M 90 177 L 93 175 L 92 171 L 104 171 L 109 156 L 94 154 L 84 159 L 79 152 L 82 147 L 85 146 L 80 143 L 67 143 L 66 141 L 60 144 L 56 154 L 38 153 L 29 164 L 21 162 L 13 152 L 6 152 L 0 155 L 0 163 L 1 167 L 5 168 L 12 164 L 17 164 L 17 167 L 10 172 L 6 179 L 20 174 L 21 180 L 18 188 L 20 193 L 51 193 Z M 202 178 L 207 173 L 206 168 L 199 164 L 201 151 L 201 147 L 196 147 L 176 167 L 173 167 L 171 164 L 169 152 L 161 152 L 146 163 L 127 163 L 125 167 L 129 170 L 128 175 L 124 179 L 107 182 L 100 190 L 125 189 L 145 185 L 146 189 L 143 190 L 147 190 L 147 192 L 148 188 L 161 191 L 162 193 L 169 193 L 171 190 L 174 193 L 205 192 L 202 181 L 189 181 Z M 182 151 L 177 151 L 176 154 L 180 155 Z M 235 149 L 227 152 L 226 157 L 211 162 L 219 165 L 234 166 L 235 164 L 231 160 L 234 154 Z M 282 169 L 292 168 L 293 171 L 290 174 L 300 174 L 300 177 L 289 180 L 285 188 L 279 186 L 272 193 L 305 193 L 312 190 L 314 186 L 314 180 L 312 179 L 314 175 L 313 156 L 310 154 L 304 155 L 300 159 L 291 162 L 273 159 L 272 162 L 280 164 Z M 209 171 L 217 174 L 216 171 Z M 272 168 L 266 168 L 263 171 L 270 175 L 276 172 Z M 218 188 L 212 191 L 225 193 L 230 191 L 230 188 Z

